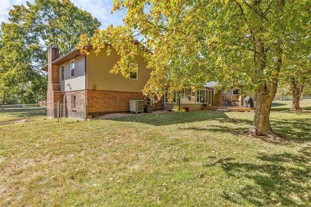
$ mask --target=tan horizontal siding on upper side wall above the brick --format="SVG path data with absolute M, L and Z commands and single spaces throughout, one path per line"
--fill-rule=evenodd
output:
M 141 92 L 150 78 L 150 69 L 146 69 L 147 63 L 142 57 L 137 57 L 138 80 L 132 80 L 119 74 L 111 74 L 109 71 L 120 60 L 120 56 L 112 49 L 107 55 L 106 49 L 97 56 L 93 50 L 87 55 L 87 89 L 112 90 L 126 92 Z

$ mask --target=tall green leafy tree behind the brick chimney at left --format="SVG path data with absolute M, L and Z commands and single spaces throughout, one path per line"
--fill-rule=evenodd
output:
M 9 22 L 2 22 L 0 28 L 2 104 L 15 102 L 15 94 L 26 94 L 27 89 L 42 96 L 47 83 L 40 68 L 47 64 L 48 48 L 56 45 L 61 55 L 65 54 L 75 49 L 80 35 L 92 35 L 100 25 L 69 0 L 15 5 L 9 12 Z

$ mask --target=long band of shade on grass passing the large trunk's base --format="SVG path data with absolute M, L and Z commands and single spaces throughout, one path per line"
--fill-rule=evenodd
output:
M 292 112 L 290 112 L 292 113 Z M 311 111 L 299 111 L 293 113 L 311 113 Z M 241 119 L 241 118 L 229 118 L 223 112 L 215 111 L 197 111 L 197 112 L 187 112 L 187 113 L 168 113 L 168 114 L 156 114 L 156 115 L 147 115 L 147 116 L 135 116 L 135 117 L 125 117 L 120 119 L 115 119 L 114 121 L 133 121 L 145 124 L 151 124 L 155 126 L 164 126 L 171 124 L 183 124 L 191 123 L 197 121 L 211 121 L 206 127 L 189 127 L 183 129 L 190 130 L 200 130 L 200 131 L 212 131 L 212 132 L 229 132 L 232 134 L 241 134 L 248 127 L 253 124 L 253 121 L 250 119 Z M 217 125 L 215 122 L 220 123 L 230 123 L 233 126 L 229 125 Z M 285 138 L 277 140 L 272 140 L 270 138 L 262 138 L 262 140 L 278 143 L 278 144 L 288 144 L 291 142 L 303 143 L 311 140 L 311 120 L 310 119 L 283 119 L 279 120 L 276 118 L 270 118 L 270 124 L 272 129 L 280 134 L 284 135 Z M 290 137 L 290 138 L 288 138 Z

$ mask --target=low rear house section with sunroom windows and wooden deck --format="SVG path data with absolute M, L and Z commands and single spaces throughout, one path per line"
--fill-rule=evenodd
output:
M 254 101 L 254 107 L 256 105 L 255 95 L 253 92 L 246 91 L 244 96 L 241 94 L 242 88 L 234 88 L 226 90 L 219 90 L 214 94 L 214 86 L 216 82 L 208 82 L 203 88 L 192 91 L 189 87 L 179 92 L 179 96 L 176 96 L 175 102 L 177 105 L 183 108 L 189 108 L 189 110 L 201 110 L 203 106 L 243 106 L 244 97 L 250 96 Z M 225 101 L 224 99 L 229 97 L 230 101 Z M 174 102 L 169 102 L 164 97 L 164 109 L 172 110 Z

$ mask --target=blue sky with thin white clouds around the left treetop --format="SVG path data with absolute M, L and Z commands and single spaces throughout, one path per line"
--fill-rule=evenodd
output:
M 13 5 L 26 5 L 27 0 L 0 0 L 0 22 L 8 21 L 8 13 Z M 28 0 L 34 4 L 35 0 Z M 105 29 L 108 25 L 123 25 L 120 15 L 116 12 L 111 14 L 113 8 L 113 0 L 70 0 L 78 8 L 87 11 L 93 17 L 96 17 L 101 23 L 101 29 Z

